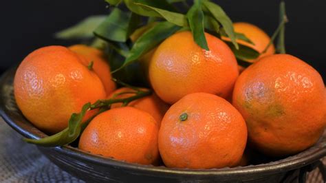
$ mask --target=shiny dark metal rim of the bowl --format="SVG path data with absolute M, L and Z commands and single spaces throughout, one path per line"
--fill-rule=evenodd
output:
M 6 103 L 3 101 L 3 86 L 8 85 L 10 81 L 14 78 L 14 73 L 16 67 L 8 69 L 0 77 L 0 116 L 12 129 L 20 133 L 25 138 L 39 139 L 45 137 L 45 133 L 34 127 L 28 120 L 19 121 L 19 123 L 12 120 L 10 112 L 6 109 Z M 12 83 L 11 83 L 12 86 Z M 22 115 L 22 114 L 21 114 Z M 32 129 L 25 129 L 21 124 L 28 122 L 32 125 Z M 324 139 L 324 138 L 323 138 Z M 74 158 L 79 158 L 86 160 L 88 162 L 93 162 L 96 164 L 102 164 L 104 166 L 117 166 L 122 169 L 129 169 L 130 171 L 138 171 L 151 176 L 162 175 L 165 176 L 175 176 L 175 175 L 187 175 L 187 176 L 217 176 L 217 175 L 272 175 L 275 173 L 281 173 L 284 171 L 291 171 L 293 169 L 298 169 L 308 164 L 316 162 L 320 158 L 326 155 L 326 138 L 322 142 L 318 142 L 313 147 L 302 151 L 296 155 L 289 156 L 282 160 L 268 162 L 265 164 L 248 165 L 248 166 L 237 166 L 233 168 L 221 168 L 221 169 L 179 169 L 179 168 L 169 168 L 166 166 L 153 166 L 129 163 L 120 160 L 115 160 L 113 158 L 105 158 L 102 155 L 94 155 L 87 153 L 75 147 L 65 145 L 63 147 L 41 147 L 50 148 L 58 153 L 63 153 L 65 155 L 71 155 Z

